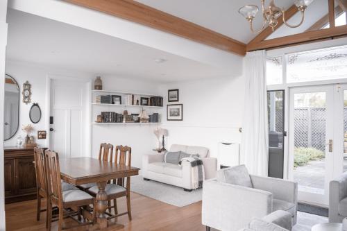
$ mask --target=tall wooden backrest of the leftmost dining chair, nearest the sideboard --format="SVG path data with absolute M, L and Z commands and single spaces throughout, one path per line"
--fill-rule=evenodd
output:
M 43 148 L 34 148 L 36 187 L 38 190 L 48 193 L 46 156 Z

